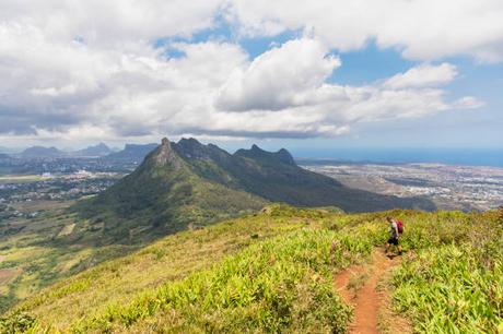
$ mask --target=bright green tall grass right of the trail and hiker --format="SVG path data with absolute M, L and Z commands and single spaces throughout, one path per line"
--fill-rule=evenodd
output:
M 432 241 L 410 240 L 423 247 L 396 272 L 394 300 L 417 332 L 503 332 L 502 217 L 453 214 L 431 224 Z

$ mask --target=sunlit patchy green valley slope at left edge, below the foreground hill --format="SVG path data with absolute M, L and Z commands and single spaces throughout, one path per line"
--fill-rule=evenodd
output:
M 94 242 L 89 243 L 74 236 L 79 235 L 78 229 L 84 224 L 73 215 L 66 214 L 65 205 L 46 211 L 33 219 L 2 222 L 0 271 L 12 271 L 16 275 L 0 283 L 0 312 L 58 278 L 71 276 L 104 259 L 134 249 L 127 244 L 96 247 Z M 71 226 L 72 234 L 60 235 L 63 230 L 69 231 Z

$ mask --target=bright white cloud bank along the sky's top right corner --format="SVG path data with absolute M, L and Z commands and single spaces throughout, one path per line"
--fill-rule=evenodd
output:
M 341 51 L 370 39 L 410 59 L 469 55 L 503 60 L 500 0 L 232 0 L 229 15 L 247 35 L 308 29 Z

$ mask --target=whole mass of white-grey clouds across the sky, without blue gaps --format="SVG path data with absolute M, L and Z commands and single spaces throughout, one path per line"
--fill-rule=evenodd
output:
M 397 13 L 363 1 L 2 1 L 0 133 L 75 140 L 332 136 L 355 122 L 480 107 L 471 96 L 446 98 L 443 85 L 457 75 L 446 62 L 426 62 L 363 86 L 327 81 L 343 65 L 335 52 L 360 48 L 369 38 L 416 59 L 503 55 L 500 21 L 493 21 L 498 3 L 459 2 L 452 14 L 475 29 L 461 28 L 461 43 L 452 27 L 432 27 L 431 0 L 386 1 Z M 468 9 L 482 14 L 483 24 Z M 442 25 L 454 20 L 444 17 L 443 3 L 436 10 Z M 412 20 L 414 11 L 422 19 Z M 236 20 L 243 34 L 306 33 L 255 59 L 225 38 L 173 38 L 214 26 L 217 15 Z M 175 41 L 154 47 L 163 37 Z M 169 57 L 167 50 L 179 55 Z

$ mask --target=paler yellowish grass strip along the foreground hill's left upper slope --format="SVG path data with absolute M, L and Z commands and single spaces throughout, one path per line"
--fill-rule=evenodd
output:
M 179 232 L 131 255 L 65 279 L 50 290 L 28 299 L 21 308 L 47 318 L 46 322 L 58 329 L 65 329 L 75 317 L 90 310 L 106 310 L 107 302 L 128 302 L 141 291 L 203 270 L 252 243 L 304 226 L 303 219 L 256 215 Z

